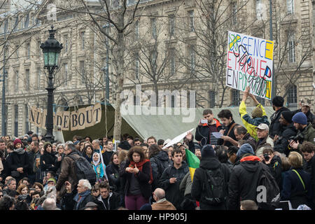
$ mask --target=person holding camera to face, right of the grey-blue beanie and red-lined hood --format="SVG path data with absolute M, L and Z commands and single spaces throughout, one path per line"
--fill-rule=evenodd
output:
M 270 173 L 274 176 L 278 186 L 281 184 L 281 158 L 275 154 L 272 147 L 265 147 L 260 155 L 260 162 L 269 167 Z

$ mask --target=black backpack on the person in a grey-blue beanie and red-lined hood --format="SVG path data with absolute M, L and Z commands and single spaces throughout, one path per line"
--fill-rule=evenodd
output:
M 278 208 L 280 205 L 280 189 L 276 179 L 269 172 L 269 167 L 259 164 L 256 174 L 256 202 L 258 209 L 274 210 Z

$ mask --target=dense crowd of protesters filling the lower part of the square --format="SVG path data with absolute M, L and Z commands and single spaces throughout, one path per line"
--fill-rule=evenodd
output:
M 255 103 L 251 115 L 247 97 Z M 74 136 L 65 144 L 31 132 L 2 137 L 0 209 L 257 210 L 260 168 L 276 181 L 281 201 L 290 201 L 293 209 L 314 209 L 315 117 L 307 99 L 297 111 L 283 102 L 272 99 L 275 112 L 268 120 L 246 89 L 239 106 L 242 124 L 228 109 L 218 118 L 206 109 L 195 136 L 188 133 L 168 147 L 171 139 L 128 134 L 116 149 L 110 137 Z M 186 149 L 200 159 L 193 181 Z M 81 157 L 94 170 L 95 183 L 78 179 L 74 163 Z M 208 194 L 221 196 L 214 202 Z

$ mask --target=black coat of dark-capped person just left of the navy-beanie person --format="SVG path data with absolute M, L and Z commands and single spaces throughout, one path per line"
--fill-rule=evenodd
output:
M 279 139 L 274 142 L 274 151 L 277 151 L 279 153 L 284 153 L 286 156 L 290 153 L 290 150 L 288 149 L 288 140 L 290 137 L 295 137 L 297 134 L 297 130 L 293 126 L 293 124 L 290 124 L 288 126 L 283 127 L 283 132 L 279 136 Z

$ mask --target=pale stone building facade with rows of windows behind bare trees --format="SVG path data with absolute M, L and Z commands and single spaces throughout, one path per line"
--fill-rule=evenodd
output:
M 200 1 L 153 0 L 139 4 L 138 12 L 142 16 L 136 17 L 128 30 L 130 37 L 126 38 L 126 90 L 135 92 L 137 85 L 141 85 L 143 92 L 194 90 L 197 107 L 238 106 L 241 92 L 229 87 L 223 88 L 224 68 L 223 72 L 216 74 L 217 79 L 211 71 L 207 73 L 207 69 L 200 69 L 203 64 L 207 64 L 207 60 L 202 62 L 200 59 L 200 46 L 204 41 L 205 45 L 210 45 L 204 49 L 211 52 L 211 45 L 228 41 L 225 38 L 228 30 L 269 39 L 269 1 L 223 1 L 220 7 L 219 1 L 202 1 L 207 6 L 206 10 L 198 4 Z M 131 8 L 134 2 L 128 1 Z M 286 4 L 278 0 L 272 2 L 272 33 L 274 41 L 279 41 L 274 49 L 276 94 L 285 94 L 285 103 L 290 109 L 297 108 L 302 97 L 310 97 L 314 104 L 312 83 L 315 83 L 315 41 L 311 42 L 311 37 L 314 38 L 312 1 L 287 0 Z M 45 134 L 45 130 L 28 123 L 28 115 L 30 106 L 43 109 L 46 107 L 47 71 L 43 69 L 43 54 L 39 46 L 48 38 L 51 24 L 57 29 L 55 38 L 64 46 L 54 79 L 55 111 L 66 110 L 67 106 L 104 102 L 106 97 L 106 38 L 95 31 L 97 29 L 88 15 L 59 11 L 57 21 L 47 20 L 48 12 L 45 7 L 48 3 L 58 4 L 58 1 L 44 1 L 43 6 L 31 10 L 28 17 L 21 12 L 21 20 L 18 20 L 14 31 L 16 14 L 8 15 L 9 28 L 6 36 L 4 29 L 0 28 L 0 39 L 7 43 L 6 126 L 10 136 L 21 136 L 28 130 Z M 99 5 L 92 1 L 89 7 L 97 10 Z M 204 27 L 209 25 L 207 20 L 211 20 L 211 13 L 215 12 L 223 13 L 221 20 L 229 23 L 220 28 L 221 33 L 210 33 L 209 38 L 202 38 L 202 35 L 207 36 L 207 33 L 203 33 L 208 31 Z M 2 17 L 1 21 L 3 20 L 6 17 Z M 110 29 L 115 35 L 113 27 Z M 217 43 L 214 43 L 211 35 L 216 36 Z M 111 43 L 108 47 L 111 47 Z M 225 46 L 223 49 L 221 47 L 218 46 L 217 50 L 221 50 L 224 55 Z M 0 57 L 3 58 L 3 50 L 1 53 Z M 109 50 L 110 103 L 114 103 L 116 90 L 114 54 L 115 52 Z M 207 59 L 207 54 L 202 57 Z M 225 56 L 217 58 L 222 59 L 222 66 L 225 66 Z M 218 60 L 217 63 L 221 62 Z M 2 87 L 2 83 L 0 86 Z M 175 106 L 175 102 L 176 99 L 172 98 L 169 106 Z M 266 106 L 270 105 L 267 101 L 262 102 Z

